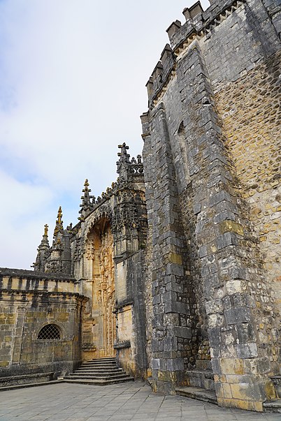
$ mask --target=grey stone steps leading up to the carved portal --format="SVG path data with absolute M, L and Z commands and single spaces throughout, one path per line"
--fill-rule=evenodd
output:
M 86 385 L 111 385 L 124 381 L 134 381 L 134 377 L 117 367 L 115 357 L 104 357 L 83 362 L 69 376 L 64 377 L 66 383 L 82 383 Z

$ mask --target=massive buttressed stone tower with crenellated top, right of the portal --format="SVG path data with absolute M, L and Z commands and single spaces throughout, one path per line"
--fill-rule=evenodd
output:
M 255 411 L 280 344 L 280 29 L 266 6 L 185 9 L 141 117 L 154 389 L 190 384 L 211 357 L 219 404 Z

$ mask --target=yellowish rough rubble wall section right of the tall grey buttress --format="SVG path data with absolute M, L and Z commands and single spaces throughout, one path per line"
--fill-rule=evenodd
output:
M 250 219 L 259 235 L 267 279 L 281 309 L 280 52 L 215 95 Z M 245 98 L 247 96 L 247 98 Z

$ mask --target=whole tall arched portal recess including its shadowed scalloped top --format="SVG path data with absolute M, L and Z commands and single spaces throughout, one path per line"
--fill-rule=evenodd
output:
M 113 213 L 101 206 L 87 219 L 85 228 L 85 265 L 87 267 L 86 295 L 90 297 L 83 341 L 95 348 L 88 357 L 114 356 L 116 321 L 115 265 L 113 260 Z M 110 298 L 111 297 L 111 298 Z M 86 352 L 86 351 L 85 351 Z

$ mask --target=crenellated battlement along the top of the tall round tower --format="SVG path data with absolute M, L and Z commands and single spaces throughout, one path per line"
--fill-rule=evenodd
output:
M 150 110 L 159 96 L 166 90 L 166 85 L 175 74 L 177 57 L 194 41 L 203 37 L 210 37 L 212 29 L 226 20 L 245 0 L 217 0 L 212 1 L 205 11 L 200 1 L 190 8 L 185 8 L 182 14 L 186 22 L 175 20 L 166 30 L 170 44 L 166 44 L 160 60 L 155 66 L 150 79 L 147 81 L 148 107 Z

